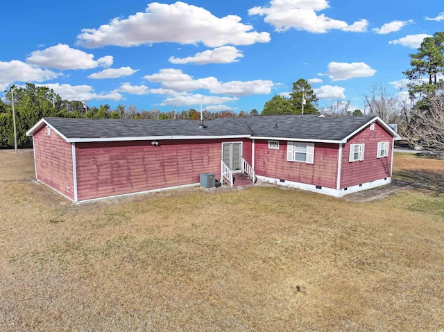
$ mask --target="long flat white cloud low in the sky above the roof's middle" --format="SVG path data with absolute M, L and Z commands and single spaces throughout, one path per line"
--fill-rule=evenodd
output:
M 160 69 L 159 73 L 146 75 L 144 79 L 160 83 L 162 88 L 174 91 L 194 91 L 206 89 L 212 94 L 227 94 L 229 96 L 250 96 L 252 94 L 270 94 L 273 82 L 271 80 L 219 82 L 214 77 L 194 79 L 182 73 L 180 69 Z

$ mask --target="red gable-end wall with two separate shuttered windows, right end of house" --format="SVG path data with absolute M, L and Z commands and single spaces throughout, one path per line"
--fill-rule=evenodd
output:
M 390 150 L 388 157 L 377 158 L 377 143 L 389 141 Z M 364 160 L 349 162 L 350 144 L 365 143 Z M 344 144 L 342 150 L 341 167 L 341 189 L 363 184 L 375 180 L 384 179 L 391 175 L 391 150 L 393 148 L 393 137 L 388 134 L 378 123 L 375 123 L 375 130 L 371 131 L 370 126 L 359 134 L 349 139 Z

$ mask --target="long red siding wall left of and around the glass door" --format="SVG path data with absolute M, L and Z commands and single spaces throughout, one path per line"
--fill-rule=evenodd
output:
M 198 183 L 200 173 L 219 179 L 223 141 L 243 141 L 251 162 L 249 139 L 76 143 L 78 200 Z

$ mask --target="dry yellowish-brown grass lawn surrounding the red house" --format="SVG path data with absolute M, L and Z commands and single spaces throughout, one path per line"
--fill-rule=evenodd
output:
M 0 150 L 0 331 L 444 330 L 444 161 L 380 200 L 255 186 L 72 204 Z M 440 182 L 441 181 L 441 182 Z

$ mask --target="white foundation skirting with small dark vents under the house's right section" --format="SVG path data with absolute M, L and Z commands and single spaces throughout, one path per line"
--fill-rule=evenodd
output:
M 357 184 L 356 186 L 349 186 L 347 189 L 332 189 L 327 187 L 315 186 L 314 184 L 306 184 L 301 182 L 294 182 L 289 180 L 274 179 L 273 177 L 266 177 L 262 175 L 256 175 L 257 180 L 272 183 L 277 186 L 286 186 L 288 188 L 296 188 L 306 191 L 313 191 L 314 193 L 323 193 L 324 195 L 330 195 L 334 197 L 343 197 L 344 195 L 348 195 L 350 193 L 356 193 L 357 191 L 363 191 L 367 189 L 372 189 L 377 186 L 384 186 L 384 184 L 389 184 L 391 182 L 391 177 L 386 177 L 385 179 L 375 180 L 366 182 L 363 184 Z

